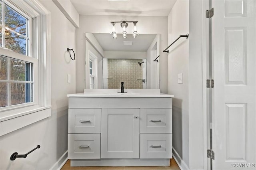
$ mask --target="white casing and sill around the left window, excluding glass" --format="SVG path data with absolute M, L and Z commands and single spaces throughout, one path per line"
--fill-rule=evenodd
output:
M 0 109 L 0 136 L 51 116 L 50 12 L 38 0 L 2 1 L 8 4 L 8 6 L 11 4 L 11 7 L 15 10 L 17 8 L 18 12 L 22 10 L 33 18 L 31 31 L 36 36 L 33 36 L 31 41 L 33 43 L 30 50 L 32 48 L 34 50 L 32 53 L 33 57 L 29 57 L 29 59 L 35 63 L 34 65 L 38 66 L 37 69 L 34 69 L 33 75 L 34 80 L 37 79 L 38 81 L 37 85 L 34 85 L 34 88 L 38 89 L 37 97 L 35 97 L 38 102 L 34 103 L 34 105 L 24 105 L 24 107 Z M 12 52 L 8 49 L 0 48 L 1 54 L 2 51 L 6 53 L 4 55 L 9 55 Z M 15 53 L 15 55 L 17 54 Z M 15 58 L 13 55 L 8 57 Z M 21 58 L 19 60 L 22 60 Z

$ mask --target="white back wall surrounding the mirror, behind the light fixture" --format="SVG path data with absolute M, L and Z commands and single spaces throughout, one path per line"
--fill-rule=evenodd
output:
M 167 93 L 167 54 L 162 51 L 167 47 L 167 17 L 144 17 L 144 16 L 102 16 L 102 15 L 80 15 L 79 28 L 76 30 L 76 71 L 77 85 L 85 77 L 85 36 L 89 33 L 110 33 L 112 32 L 111 21 L 138 21 L 138 32 L 140 34 L 160 34 L 160 89 L 162 93 Z M 121 32 L 121 27 L 116 27 L 116 32 Z M 132 32 L 132 27 L 127 28 L 127 32 Z M 82 88 L 78 87 L 77 93 L 81 93 Z

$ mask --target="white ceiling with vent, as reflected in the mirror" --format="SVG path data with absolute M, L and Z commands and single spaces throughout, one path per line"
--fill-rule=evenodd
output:
M 132 38 L 132 34 L 127 34 L 127 38 L 122 38 L 122 34 L 117 34 L 117 38 L 114 39 L 112 34 L 93 33 L 93 35 L 104 51 L 147 51 L 156 37 L 156 34 L 140 34 L 137 38 Z M 124 41 L 133 43 L 123 45 Z

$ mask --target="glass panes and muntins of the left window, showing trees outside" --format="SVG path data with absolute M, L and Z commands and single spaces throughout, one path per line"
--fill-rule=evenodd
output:
M 21 13 L 0 1 L 0 47 L 10 50 L 6 56 L 0 55 L 0 107 L 34 101 L 33 65 L 37 59 L 31 59 L 29 51 L 32 18 Z

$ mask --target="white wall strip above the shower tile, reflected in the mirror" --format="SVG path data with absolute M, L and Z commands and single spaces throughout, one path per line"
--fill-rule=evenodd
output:
M 104 58 L 145 59 L 146 51 L 104 51 Z

